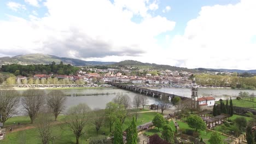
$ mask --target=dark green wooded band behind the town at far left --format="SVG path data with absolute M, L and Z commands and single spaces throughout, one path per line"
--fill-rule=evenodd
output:
M 77 73 L 79 68 L 73 67 L 71 64 L 33 64 L 33 65 L 20 65 L 8 64 L 2 65 L 3 72 L 13 73 L 14 75 L 32 76 L 34 74 L 59 74 L 59 75 L 72 75 Z

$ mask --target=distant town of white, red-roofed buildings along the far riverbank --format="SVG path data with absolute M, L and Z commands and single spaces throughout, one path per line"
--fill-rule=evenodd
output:
M 131 85 L 141 85 L 144 87 L 191 87 L 191 79 L 190 76 L 195 74 L 188 71 L 171 71 L 171 70 L 161 70 L 158 71 L 158 74 L 152 75 L 150 74 L 150 70 L 146 75 L 142 76 L 127 76 L 124 73 L 120 73 L 120 71 L 124 71 L 125 74 L 129 74 L 132 72 L 130 69 L 97 69 L 97 68 L 80 68 L 80 70 L 75 75 L 46 75 L 46 74 L 35 74 L 33 75 L 33 79 L 45 79 L 45 81 L 49 77 L 56 77 L 58 80 L 68 80 L 68 81 L 79 81 L 79 84 L 98 84 L 98 83 L 107 83 L 107 82 L 120 82 L 120 83 L 130 83 Z M 153 70 L 152 70 L 153 71 Z M 206 72 L 207 74 L 217 75 L 219 72 Z M 221 74 L 231 75 L 231 73 Z M 24 79 L 29 79 L 25 76 L 16 76 L 16 84 L 22 84 Z M 33 84 L 36 84 L 35 82 Z M 44 83 L 40 83 L 44 84 Z M 46 84 L 46 83 L 45 83 Z M 65 83 L 58 83 L 65 84 Z

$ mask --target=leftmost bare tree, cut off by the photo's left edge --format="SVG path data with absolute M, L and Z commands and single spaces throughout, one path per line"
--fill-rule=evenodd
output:
M 17 113 L 19 106 L 19 93 L 11 87 L 0 88 L 0 122 L 4 124 L 7 119 Z

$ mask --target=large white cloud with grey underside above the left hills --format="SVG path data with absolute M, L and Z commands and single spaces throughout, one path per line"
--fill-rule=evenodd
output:
M 10 21 L 0 22 L 0 51 L 12 56 L 48 53 L 102 61 L 124 57 L 152 61 L 147 55 L 161 49 L 155 37 L 172 31 L 175 22 L 151 16 L 149 5 L 137 0 L 117 0 L 114 4 L 107 0 L 46 1 L 49 14 L 42 18 L 10 16 Z M 131 18 L 137 15 L 144 18 L 140 23 L 132 22 Z

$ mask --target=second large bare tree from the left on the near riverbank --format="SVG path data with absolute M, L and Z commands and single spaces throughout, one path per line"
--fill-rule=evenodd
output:
M 22 106 L 27 115 L 30 116 L 31 123 L 33 123 L 38 112 L 45 104 L 45 92 L 42 89 L 27 89 L 22 96 Z

